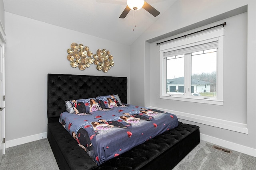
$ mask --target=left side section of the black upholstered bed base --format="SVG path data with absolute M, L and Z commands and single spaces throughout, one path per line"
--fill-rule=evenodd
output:
M 97 167 L 58 121 L 48 123 L 47 138 L 60 170 L 91 170 Z

